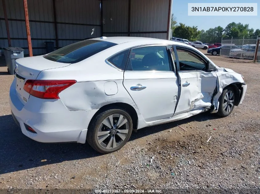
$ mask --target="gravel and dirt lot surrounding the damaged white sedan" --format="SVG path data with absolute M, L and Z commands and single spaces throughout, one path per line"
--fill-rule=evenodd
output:
M 23 135 L 8 104 L 13 76 L 0 67 L 0 188 L 259 188 L 260 64 L 208 56 L 244 75 L 242 105 L 226 118 L 206 112 L 146 127 L 106 155 L 89 145 L 44 144 Z

